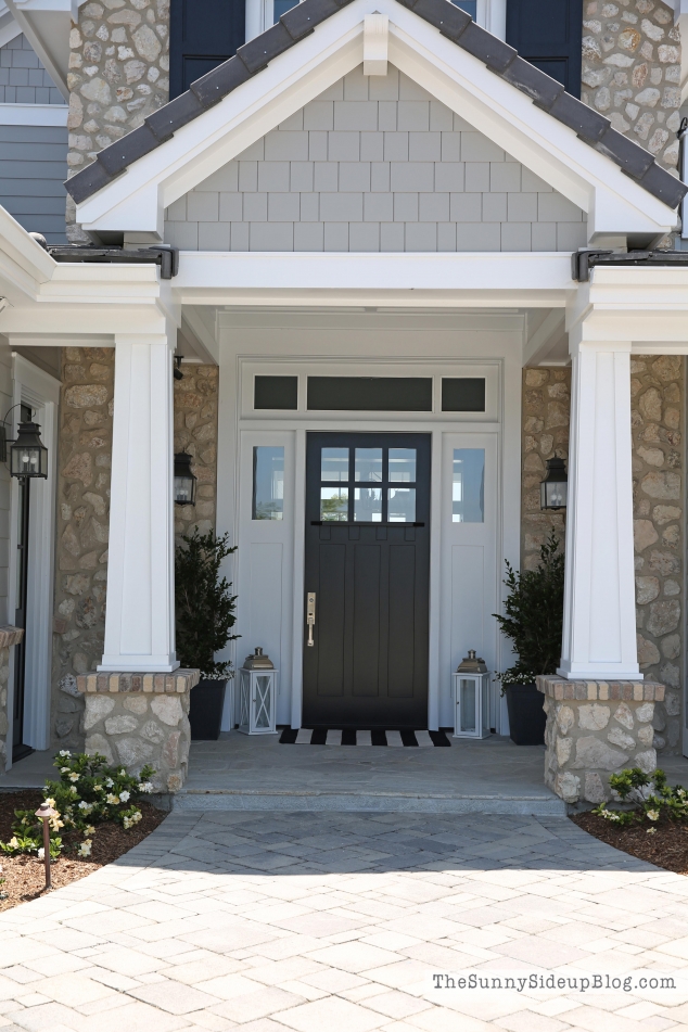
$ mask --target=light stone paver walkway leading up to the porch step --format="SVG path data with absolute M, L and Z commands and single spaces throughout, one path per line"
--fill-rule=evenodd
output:
M 688 971 L 688 878 L 562 818 L 173 813 L 0 915 L 2 1032 L 663 1032 L 688 997 L 433 989 Z

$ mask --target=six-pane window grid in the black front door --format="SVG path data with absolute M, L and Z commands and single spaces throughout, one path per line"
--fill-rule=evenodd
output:
M 416 448 L 322 448 L 320 519 L 413 523 L 416 470 Z

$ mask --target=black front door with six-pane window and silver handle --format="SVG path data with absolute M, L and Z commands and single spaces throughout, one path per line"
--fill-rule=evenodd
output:
M 430 451 L 429 434 L 308 434 L 304 727 L 426 726 Z

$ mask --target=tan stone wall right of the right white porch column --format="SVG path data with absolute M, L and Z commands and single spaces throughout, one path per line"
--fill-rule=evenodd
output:
M 681 750 L 684 370 L 677 355 L 630 364 L 638 661 L 666 686 L 653 726 L 657 750 L 667 753 Z

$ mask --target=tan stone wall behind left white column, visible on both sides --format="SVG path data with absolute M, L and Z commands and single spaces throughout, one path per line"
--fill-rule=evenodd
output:
M 193 456 L 199 486 L 195 507 L 175 506 L 177 535 L 215 525 L 218 370 L 182 370 L 175 380 L 175 449 Z M 51 706 L 52 741 L 61 748 L 84 743 L 77 677 L 103 654 L 114 373 L 114 348 L 63 352 Z M 1 665 L 0 657 L 0 685 Z

